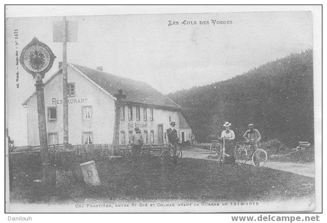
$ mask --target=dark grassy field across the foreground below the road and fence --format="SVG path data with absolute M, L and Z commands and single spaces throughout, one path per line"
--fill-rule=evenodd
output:
M 16 170 L 12 202 L 78 202 L 118 197 L 194 197 L 200 200 L 274 200 L 314 195 L 314 179 L 290 172 L 183 158 L 177 169 L 141 162 L 97 162 L 101 185 L 87 188 L 80 173 L 61 172 L 48 193 L 33 187 L 40 171 Z

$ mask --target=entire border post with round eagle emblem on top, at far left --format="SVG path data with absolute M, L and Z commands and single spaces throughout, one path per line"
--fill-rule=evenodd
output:
M 40 137 L 40 153 L 43 169 L 43 182 L 50 185 L 50 160 L 48 152 L 47 126 L 44 106 L 44 91 L 42 79 L 48 72 L 54 61 L 54 54 L 51 49 L 37 38 L 27 44 L 20 54 L 20 63 L 23 68 L 30 73 L 36 80 L 35 86 L 37 90 L 38 103 L 38 120 L 39 120 L 39 137 Z

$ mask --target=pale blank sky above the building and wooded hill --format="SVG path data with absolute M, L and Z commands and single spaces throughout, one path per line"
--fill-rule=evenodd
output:
M 62 61 L 62 43 L 52 39 L 52 24 L 58 20 L 62 17 L 7 19 L 8 129 L 16 145 L 27 144 L 26 109 L 21 103 L 35 91 L 35 80 L 19 64 L 16 88 L 14 29 L 18 29 L 19 56 L 34 36 L 55 54 L 45 81 Z M 68 62 L 103 66 L 106 72 L 146 82 L 164 94 L 233 78 L 313 47 L 308 11 L 68 16 L 67 20 L 78 22 L 78 41 L 68 43 Z M 169 26 L 169 21 L 179 24 Z

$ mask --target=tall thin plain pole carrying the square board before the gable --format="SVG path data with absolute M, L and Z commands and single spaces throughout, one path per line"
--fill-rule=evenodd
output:
M 63 112 L 63 147 L 69 148 L 69 128 L 68 128 L 68 80 L 67 80 L 67 23 L 66 16 L 64 22 L 64 39 L 62 43 L 62 112 Z

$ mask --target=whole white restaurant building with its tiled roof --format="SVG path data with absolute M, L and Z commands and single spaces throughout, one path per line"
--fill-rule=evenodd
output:
M 102 70 L 68 64 L 69 142 L 71 144 L 110 144 L 113 139 L 115 100 L 122 89 L 120 143 L 139 127 L 145 143 L 163 143 L 170 121 L 175 121 L 180 141 L 191 141 L 192 130 L 182 108 L 144 82 L 118 77 Z M 63 142 L 61 68 L 45 82 L 45 110 L 49 144 Z M 27 108 L 28 145 L 39 145 L 36 93 L 23 103 Z

